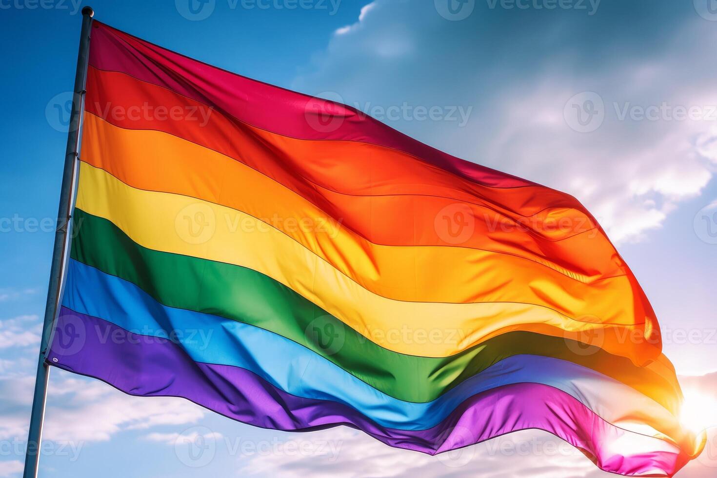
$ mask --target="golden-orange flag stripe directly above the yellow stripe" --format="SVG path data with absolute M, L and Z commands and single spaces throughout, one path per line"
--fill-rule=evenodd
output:
M 635 300 L 640 291 L 632 290 L 625 275 L 588 285 L 508 254 L 373 244 L 267 176 L 181 138 L 124 130 L 90 113 L 83 138 L 83 161 L 124 183 L 244 211 L 383 297 L 412 302 L 522 302 L 582 321 L 631 325 L 645 320 L 645 310 Z M 247 226 L 238 217 L 217 220 L 226 221 L 229 229 Z

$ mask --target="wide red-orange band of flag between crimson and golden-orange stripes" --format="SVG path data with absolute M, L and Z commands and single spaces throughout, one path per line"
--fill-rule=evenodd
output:
M 375 244 L 488 249 L 550 263 L 576 277 L 626 271 L 577 201 L 549 188 L 489 188 L 419 167 L 389 148 L 267 133 L 122 73 L 90 68 L 87 85 L 87 111 L 123 128 L 166 131 L 237 159 Z M 174 120 L 167 113 L 173 108 L 179 110 Z

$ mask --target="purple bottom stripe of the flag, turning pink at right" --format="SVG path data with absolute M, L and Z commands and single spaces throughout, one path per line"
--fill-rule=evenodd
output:
M 378 426 L 333 401 L 293 396 L 254 373 L 195 363 L 170 340 L 137 335 L 62 307 L 49 363 L 99 378 L 136 396 L 179 396 L 245 424 L 284 431 L 346 425 L 385 444 L 435 454 L 522 429 L 549 431 L 594 457 L 608 472 L 673 474 L 686 462 L 667 442 L 618 429 L 568 394 L 534 383 L 502 386 L 464 401 L 426 430 Z M 623 440 L 637 454 L 619 454 Z

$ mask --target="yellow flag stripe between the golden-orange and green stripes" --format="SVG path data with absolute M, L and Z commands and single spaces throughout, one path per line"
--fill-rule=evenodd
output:
M 530 304 L 387 299 L 364 289 L 253 216 L 187 196 L 131 188 L 86 163 L 80 167 L 77 207 L 112 221 L 133 241 L 149 249 L 237 264 L 266 274 L 379 345 L 399 353 L 445 357 L 508 330 L 580 340 L 581 331 L 617 327 L 572 320 L 547 307 Z M 644 341 L 619 342 L 609 333 L 602 339 L 603 348 L 617 355 L 637 361 L 646 354 L 655 355 Z

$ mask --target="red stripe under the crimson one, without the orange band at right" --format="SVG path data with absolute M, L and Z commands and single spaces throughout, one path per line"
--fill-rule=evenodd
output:
M 164 113 L 157 113 L 160 106 Z M 443 196 L 505 211 L 514 219 L 541 213 L 538 217 L 546 218 L 544 209 L 576 209 L 574 215 L 587 215 L 574 198 L 550 188 L 496 189 L 419 163 L 406 153 L 383 146 L 343 140 L 300 140 L 270 133 L 123 73 L 90 67 L 85 107 L 123 128 L 164 130 L 199 143 L 258 168 L 282 183 L 287 180 L 292 184 L 290 178 L 300 176 L 312 187 L 319 185 L 360 196 Z M 143 107 L 148 109 L 142 110 Z M 171 108 L 179 113 L 164 119 Z M 255 151 L 257 148 L 269 151 L 275 159 L 270 163 L 254 161 L 254 155 L 260 153 Z M 569 235 L 563 231 L 542 232 L 551 239 Z

